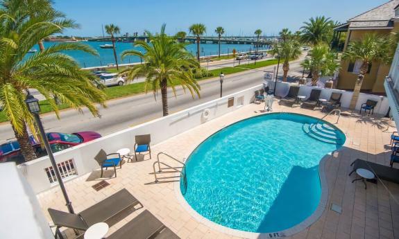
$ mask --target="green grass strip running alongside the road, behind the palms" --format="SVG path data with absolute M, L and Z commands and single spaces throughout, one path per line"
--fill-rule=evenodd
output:
M 247 71 L 248 69 L 267 67 L 272 64 L 277 64 L 277 62 L 278 62 L 278 59 L 272 59 L 272 60 L 256 62 L 256 64 L 254 64 L 254 63 L 240 64 L 235 67 L 224 67 L 221 69 L 214 69 L 214 70 L 209 71 L 209 73 L 211 73 L 212 76 L 197 78 L 196 80 L 205 80 L 205 79 L 209 79 L 209 78 L 218 77 L 219 74 L 221 73 L 221 71 L 223 71 L 223 74 L 226 76 L 226 75 L 230 75 L 232 73 Z M 281 62 L 282 62 L 282 60 L 280 60 L 280 63 Z M 109 71 L 116 73 L 117 69 L 111 69 Z M 114 98 L 121 98 L 124 96 L 133 96 L 135 94 L 144 92 L 144 84 L 145 84 L 144 82 L 138 82 L 135 84 L 124 85 L 121 87 L 108 87 L 108 88 L 104 89 L 104 92 L 107 95 L 108 100 L 114 99 Z M 62 105 L 59 105 L 59 108 L 67 109 L 68 105 L 62 104 Z M 47 112 L 52 111 L 48 100 L 40 100 L 40 111 L 41 111 L 41 113 L 47 113 Z M 0 112 L 0 122 L 6 122 L 6 121 L 8 121 L 6 114 L 4 114 L 4 112 Z

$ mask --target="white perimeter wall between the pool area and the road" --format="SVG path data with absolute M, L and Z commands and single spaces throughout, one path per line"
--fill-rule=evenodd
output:
M 130 150 L 133 152 L 135 135 L 137 134 L 151 134 L 151 144 L 154 145 L 156 143 L 160 143 L 171 138 L 172 136 L 175 136 L 176 134 L 190 130 L 197 125 L 205 123 L 206 121 L 210 121 L 213 118 L 222 116 L 223 114 L 233 112 L 239 107 L 252 103 L 255 96 L 254 92 L 262 89 L 262 87 L 263 85 L 251 87 L 235 94 L 230 94 L 229 96 L 224 96 L 223 98 L 212 100 L 210 102 L 182 110 L 181 112 L 176 112 L 175 114 L 155 119 L 154 121 L 149 121 L 142 125 L 137 125 L 126 130 L 121 130 L 119 132 L 103 136 L 100 139 L 83 143 L 81 145 L 75 146 L 74 148 L 57 152 L 54 154 L 56 161 L 57 163 L 60 163 L 62 161 L 67 161 L 68 159 L 73 159 L 78 176 L 85 175 L 87 172 L 92 172 L 92 170 L 99 168 L 99 165 L 94 160 L 94 156 L 101 148 L 107 153 L 116 152 L 121 148 L 130 148 Z M 314 87 L 300 86 L 299 95 L 309 96 L 312 88 Z M 288 93 L 288 89 L 288 83 L 278 82 L 276 87 L 276 95 L 285 96 Z M 344 108 L 349 107 L 350 98 L 352 97 L 352 92 L 350 91 L 322 89 L 321 98 L 329 99 L 332 91 L 341 92 L 343 94 L 341 98 L 341 106 Z M 234 105 L 232 107 L 228 107 L 229 98 L 234 98 Z M 365 103 L 368 99 L 378 101 L 377 107 L 375 107 L 375 114 L 387 113 L 389 108 L 387 98 L 368 94 L 360 94 L 356 109 L 359 109 L 360 105 Z M 210 109 L 210 116 L 207 120 L 205 120 L 203 117 L 204 109 Z M 22 170 L 24 176 L 28 180 L 29 184 L 31 184 L 31 187 L 35 193 L 46 191 L 49 188 L 57 185 L 51 184 L 46 176 L 46 173 L 44 172 L 44 168 L 49 166 L 51 166 L 51 163 L 48 157 L 42 157 L 34 161 L 29 161 L 24 165 L 19 166 L 20 170 Z

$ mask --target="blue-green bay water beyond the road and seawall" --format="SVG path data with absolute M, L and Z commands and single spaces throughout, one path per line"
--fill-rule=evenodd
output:
M 67 55 L 74 57 L 74 59 L 80 64 L 81 67 L 96 67 L 103 66 L 106 64 L 114 63 L 114 53 L 112 48 L 103 49 L 100 45 L 111 44 L 111 42 L 80 42 L 92 46 L 96 51 L 98 51 L 99 56 L 90 55 L 88 53 L 83 53 L 82 51 L 66 51 Z M 57 42 L 44 42 L 44 46 L 52 46 L 53 44 L 58 44 Z M 117 56 L 118 62 L 121 63 L 133 63 L 140 62 L 139 57 L 130 56 L 126 57 L 123 61 L 121 60 L 121 53 L 130 49 L 137 49 L 143 51 L 142 48 L 135 48 L 132 42 L 116 42 L 117 46 Z M 39 51 L 39 46 L 35 46 L 35 49 Z M 187 51 L 190 51 L 193 55 L 196 55 L 196 44 L 187 45 Z M 236 51 L 254 51 L 253 45 L 245 44 L 221 44 L 221 54 L 232 53 L 232 49 L 235 48 Z M 260 47 L 260 50 L 266 50 L 269 46 Z M 217 55 L 219 51 L 218 44 L 201 44 L 200 53 L 203 55 Z

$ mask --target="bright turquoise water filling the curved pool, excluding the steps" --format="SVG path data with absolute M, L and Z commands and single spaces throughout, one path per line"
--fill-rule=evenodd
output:
M 187 159 L 187 190 L 180 187 L 185 200 L 203 217 L 232 229 L 264 233 L 294 227 L 319 205 L 319 161 L 341 148 L 305 134 L 304 123 L 316 121 L 266 114 L 210 136 Z

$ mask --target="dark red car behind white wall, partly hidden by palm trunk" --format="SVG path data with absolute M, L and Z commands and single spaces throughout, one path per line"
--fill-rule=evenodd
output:
M 80 143 L 98 139 L 101 137 L 101 134 L 91 131 L 76 132 L 73 134 L 50 132 L 47 133 L 46 136 L 47 139 L 49 139 L 51 151 L 58 152 L 79 145 Z M 36 141 L 33 136 L 29 136 L 29 139 L 35 149 L 37 157 L 46 155 L 46 150 L 41 147 L 40 142 Z M 25 161 L 21 154 L 18 141 L 9 141 L 0 145 L 0 162 L 9 161 L 15 161 L 17 164 L 24 163 Z

